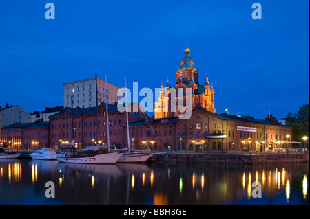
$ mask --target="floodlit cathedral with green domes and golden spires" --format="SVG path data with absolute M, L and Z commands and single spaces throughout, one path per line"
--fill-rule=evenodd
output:
M 214 89 L 213 85 L 210 87 L 209 78 L 205 77 L 205 83 L 199 84 L 198 75 L 199 71 L 196 69 L 195 63 L 192 60 L 190 54 L 190 49 L 188 46 L 185 48 L 185 55 L 183 60 L 180 62 L 180 67 L 176 71 L 176 95 L 178 95 L 178 89 L 183 89 L 183 104 L 186 106 L 186 94 L 185 89 L 191 89 L 191 96 L 189 97 L 192 102 L 192 109 L 196 107 L 202 107 L 211 111 L 216 112 L 214 108 Z M 158 102 L 154 103 L 154 114 L 156 119 L 168 118 L 168 117 L 178 117 L 179 110 L 176 102 L 176 99 L 169 93 L 169 90 L 172 89 L 172 86 L 167 80 L 167 84 L 159 94 Z M 189 103 L 187 103 L 189 104 Z M 182 106 L 183 107 L 183 106 Z

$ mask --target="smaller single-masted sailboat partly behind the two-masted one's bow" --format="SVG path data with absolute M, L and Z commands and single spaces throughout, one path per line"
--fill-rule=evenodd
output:
M 127 143 L 128 152 L 125 152 L 123 156 L 118 159 L 117 163 L 145 163 L 147 159 L 153 156 L 151 150 L 133 150 L 130 148 L 130 138 L 129 138 L 129 124 L 128 124 L 128 102 L 127 102 L 127 78 L 125 76 L 125 91 L 126 91 L 126 120 L 127 120 Z

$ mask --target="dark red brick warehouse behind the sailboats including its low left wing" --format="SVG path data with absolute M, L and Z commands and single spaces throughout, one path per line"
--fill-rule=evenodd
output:
M 110 146 L 125 148 L 128 145 L 126 112 L 118 111 L 116 104 L 108 104 L 108 107 Z M 138 102 L 129 104 L 128 108 L 131 111 L 128 113 L 128 122 L 147 117 L 146 113 L 143 115 L 140 111 Z M 133 108 L 138 108 L 138 111 L 134 112 Z M 12 150 L 36 150 L 50 146 L 58 148 L 62 142 L 71 142 L 72 139 L 74 139 L 76 148 L 93 146 L 97 141 L 99 145 L 107 142 L 105 103 L 98 106 L 98 123 L 96 122 L 96 107 L 74 108 L 73 115 L 73 132 L 72 108 L 70 107 L 65 107 L 59 113 L 51 115 L 49 121 L 46 122 L 16 123 L 3 127 L 1 128 L 1 146 Z

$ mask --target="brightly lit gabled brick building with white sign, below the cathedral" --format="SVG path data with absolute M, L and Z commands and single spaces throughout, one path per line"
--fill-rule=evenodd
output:
M 194 108 L 190 119 L 149 118 L 132 122 L 130 130 L 137 134 L 132 136 L 135 147 L 192 152 L 273 151 L 287 148 L 292 136 L 291 127 L 277 122 L 216 114 L 203 107 Z

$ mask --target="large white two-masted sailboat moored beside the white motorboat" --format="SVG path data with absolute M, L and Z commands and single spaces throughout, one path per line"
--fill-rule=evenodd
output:
M 106 86 L 106 84 L 105 84 Z M 97 73 L 96 73 L 96 118 L 98 113 L 98 92 L 97 92 Z M 72 97 L 71 97 L 72 102 Z M 98 133 L 98 121 L 97 125 L 97 133 Z M 72 136 L 73 133 L 73 104 L 72 104 Z M 97 142 L 98 142 L 98 134 Z M 76 150 L 74 148 L 74 139 L 71 143 L 63 143 L 61 144 L 61 155 L 57 156 L 57 160 L 63 163 L 116 163 L 118 159 L 123 155 L 120 152 L 110 152 L 110 147 L 107 148 L 99 148 L 98 146 L 93 148 L 87 148 L 87 150 Z

